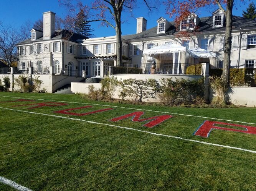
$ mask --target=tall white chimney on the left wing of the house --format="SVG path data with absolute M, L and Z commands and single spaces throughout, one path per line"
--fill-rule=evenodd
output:
M 55 13 L 48 11 L 43 13 L 43 39 L 51 39 L 55 33 Z

